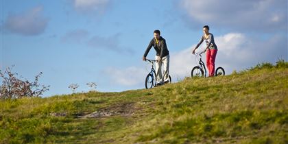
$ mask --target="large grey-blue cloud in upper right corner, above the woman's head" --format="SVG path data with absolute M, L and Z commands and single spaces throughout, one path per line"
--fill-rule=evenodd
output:
M 287 0 L 182 0 L 180 7 L 193 23 L 256 32 L 287 30 Z

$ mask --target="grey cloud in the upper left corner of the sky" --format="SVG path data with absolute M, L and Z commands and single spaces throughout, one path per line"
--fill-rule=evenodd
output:
M 4 27 L 9 32 L 24 36 L 42 34 L 48 24 L 48 19 L 42 16 L 43 6 L 37 6 L 20 14 L 9 14 Z

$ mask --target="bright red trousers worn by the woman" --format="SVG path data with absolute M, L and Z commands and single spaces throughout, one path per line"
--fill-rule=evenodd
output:
M 214 76 L 215 73 L 215 59 L 216 59 L 217 49 L 207 49 L 206 52 L 206 65 L 208 68 L 209 77 Z

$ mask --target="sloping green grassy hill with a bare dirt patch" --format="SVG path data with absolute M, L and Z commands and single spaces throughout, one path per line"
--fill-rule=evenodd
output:
M 288 62 L 149 90 L 0 101 L 0 143 L 288 143 Z

